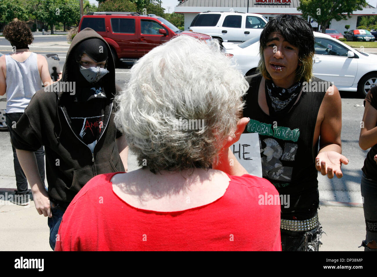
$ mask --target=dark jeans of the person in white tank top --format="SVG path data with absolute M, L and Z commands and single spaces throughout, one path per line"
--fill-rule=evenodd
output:
M 15 122 L 20 119 L 23 113 L 6 113 L 6 124 L 8 125 L 9 135 L 12 137 L 13 129 L 12 126 L 17 128 Z M 16 149 L 12 145 L 13 150 L 13 164 L 14 164 L 14 173 L 16 175 L 16 185 L 18 194 L 27 194 L 28 193 L 28 181 L 26 180 L 25 173 L 23 172 L 20 162 L 18 162 Z M 44 150 L 43 146 L 39 148 L 35 153 L 35 158 L 37 158 L 38 171 L 41 176 L 42 182 L 44 184 Z

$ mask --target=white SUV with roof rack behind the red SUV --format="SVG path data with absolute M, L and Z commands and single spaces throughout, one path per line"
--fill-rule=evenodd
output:
M 259 36 L 267 19 L 244 12 L 201 12 L 190 25 L 190 31 L 210 35 L 222 42 L 243 42 Z

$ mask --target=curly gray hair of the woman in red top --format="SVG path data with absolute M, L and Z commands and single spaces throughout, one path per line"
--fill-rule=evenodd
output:
M 146 54 L 130 72 L 125 90 L 116 96 L 115 124 L 139 165 L 146 163 L 153 173 L 210 168 L 224 140 L 234 137 L 248 89 L 217 41 L 179 35 Z

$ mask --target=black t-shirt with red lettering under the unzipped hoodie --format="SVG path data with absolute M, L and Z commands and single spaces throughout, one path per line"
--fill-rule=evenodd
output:
M 92 87 L 82 91 L 67 107 L 70 125 L 74 133 L 86 144 L 92 153 L 101 132 L 105 129 L 104 108 L 106 94 L 101 87 Z

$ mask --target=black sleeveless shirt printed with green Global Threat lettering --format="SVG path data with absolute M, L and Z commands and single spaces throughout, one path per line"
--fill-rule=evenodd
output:
M 318 142 L 313 147 L 313 138 L 328 85 L 320 92 L 302 92 L 289 113 L 271 118 L 258 104 L 261 79 L 261 74 L 246 77 L 250 88 L 244 96 L 244 117 L 249 117 L 250 121 L 244 133 L 259 133 L 263 178 L 289 199 L 289 205 L 281 203 L 282 219 L 309 219 L 315 216 L 319 205 L 318 171 L 314 161 Z M 314 82 L 325 81 L 314 77 Z

